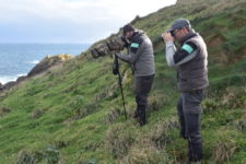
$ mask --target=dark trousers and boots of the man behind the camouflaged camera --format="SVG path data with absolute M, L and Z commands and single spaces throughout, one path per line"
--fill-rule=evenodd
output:
M 141 126 L 145 124 L 145 119 L 147 119 L 145 109 L 148 105 L 148 95 L 151 91 L 153 80 L 154 80 L 154 74 L 134 78 L 137 117 L 139 117 L 139 122 Z

